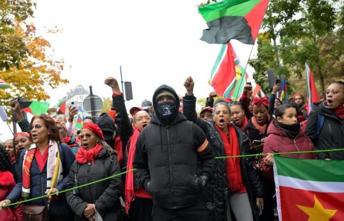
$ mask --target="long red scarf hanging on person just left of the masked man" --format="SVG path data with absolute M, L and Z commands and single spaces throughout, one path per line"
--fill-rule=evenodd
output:
M 133 169 L 133 161 L 134 161 L 134 155 L 136 150 L 136 142 L 138 140 L 138 137 L 140 135 L 139 129 L 137 127 L 134 127 L 133 135 L 130 137 L 129 142 L 129 153 L 128 155 L 128 162 L 127 162 L 127 170 Z M 137 190 L 140 192 L 140 197 L 142 198 L 152 198 L 146 191 L 144 191 L 142 188 L 139 188 Z M 135 191 L 136 192 L 136 191 Z M 129 211 L 131 201 L 134 201 L 135 199 L 135 193 L 134 193 L 134 172 L 129 172 L 126 175 L 125 180 L 125 210 Z

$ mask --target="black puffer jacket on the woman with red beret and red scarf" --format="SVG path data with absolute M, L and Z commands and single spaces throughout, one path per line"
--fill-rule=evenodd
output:
M 120 173 L 120 167 L 115 154 L 109 154 L 102 149 L 94 159 L 94 166 L 90 163 L 79 164 L 75 161 L 70 169 L 67 188 L 75 185 L 75 177 L 78 177 L 78 186 L 100 180 Z M 122 180 L 120 176 L 95 183 L 74 191 L 67 192 L 67 202 L 75 213 L 76 221 L 88 221 L 84 216 L 84 210 L 88 203 L 95 204 L 95 208 L 103 218 L 103 221 L 120 221 L 121 206 L 119 196 L 122 192 Z

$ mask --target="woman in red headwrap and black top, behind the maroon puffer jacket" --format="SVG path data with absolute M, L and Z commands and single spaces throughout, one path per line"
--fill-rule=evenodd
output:
M 244 129 L 252 143 L 251 152 L 252 153 L 262 153 L 263 143 L 267 137 L 267 128 L 271 123 L 273 117 L 269 114 L 268 110 L 270 108 L 270 103 L 266 98 L 255 97 L 252 102 L 253 117 L 249 120 L 248 124 Z M 264 210 L 260 216 L 260 220 L 263 221 L 274 221 L 274 202 L 273 195 L 275 194 L 273 182 L 264 177 L 260 160 L 261 157 L 256 157 L 255 159 L 256 171 L 263 182 L 263 187 L 265 189 L 266 195 L 264 198 Z

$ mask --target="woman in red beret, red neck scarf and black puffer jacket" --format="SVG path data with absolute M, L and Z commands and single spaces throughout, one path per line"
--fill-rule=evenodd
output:
M 98 125 L 88 123 L 81 129 L 82 146 L 76 154 L 67 188 L 80 186 L 120 173 L 115 151 L 104 141 Z M 120 221 L 120 176 L 95 183 L 73 192 L 67 192 L 67 202 L 75 213 L 75 221 L 95 221 L 100 215 L 103 221 Z

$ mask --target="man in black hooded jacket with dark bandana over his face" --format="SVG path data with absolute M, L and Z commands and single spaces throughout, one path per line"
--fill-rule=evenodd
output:
M 208 140 L 178 111 L 179 97 L 172 87 L 155 90 L 153 108 L 133 163 L 135 178 L 153 196 L 153 221 L 211 220 L 211 208 L 202 200 L 202 187 L 212 179 L 215 166 Z

